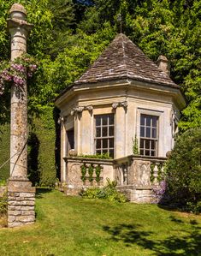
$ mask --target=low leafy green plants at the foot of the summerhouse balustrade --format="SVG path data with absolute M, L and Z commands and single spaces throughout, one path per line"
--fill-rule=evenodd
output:
M 111 182 L 107 179 L 108 184 L 104 188 L 87 188 L 81 192 L 81 196 L 88 199 L 107 199 L 112 202 L 125 203 L 127 198 L 124 194 L 116 190 L 117 182 Z

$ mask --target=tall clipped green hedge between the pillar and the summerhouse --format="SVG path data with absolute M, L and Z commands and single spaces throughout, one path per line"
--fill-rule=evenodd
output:
M 53 109 L 46 107 L 40 118 L 33 118 L 33 126 L 28 140 L 28 176 L 35 185 L 55 187 L 55 142 Z

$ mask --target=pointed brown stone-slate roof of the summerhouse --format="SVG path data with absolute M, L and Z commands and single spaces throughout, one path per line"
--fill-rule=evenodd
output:
M 74 84 L 127 78 L 180 87 L 122 33 L 115 37 L 92 67 Z

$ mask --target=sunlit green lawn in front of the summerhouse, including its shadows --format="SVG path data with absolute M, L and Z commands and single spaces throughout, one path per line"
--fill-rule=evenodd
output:
M 201 216 L 39 190 L 34 225 L 0 229 L 0 255 L 201 255 Z

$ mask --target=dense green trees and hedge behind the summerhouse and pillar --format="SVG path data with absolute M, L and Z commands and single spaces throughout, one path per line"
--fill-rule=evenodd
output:
M 15 0 L 0 1 L 0 62 L 10 55 L 6 19 Z M 79 78 L 122 33 L 156 61 L 170 61 L 170 76 L 186 95 L 180 133 L 201 126 L 201 1 L 18 0 L 34 24 L 28 53 L 39 64 L 29 90 L 29 172 L 35 184 L 53 185 L 59 173 L 56 96 Z M 9 158 L 9 91 L 0 96 L 0 165 Z M 57 161 L 56 161 L 57 159 Z M 0 179 L 9 176 L 9 164 Z

